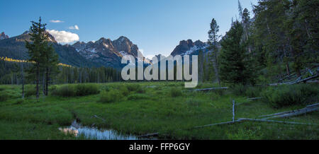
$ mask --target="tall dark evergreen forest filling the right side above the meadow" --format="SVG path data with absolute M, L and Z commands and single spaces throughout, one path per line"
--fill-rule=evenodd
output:
M 259 0 L 250 12 L 238 1 L 240 18 L 219 42 L 217 21 L 211 22 L 213 52 L 208 58 L 199 55 L 200 78 L 255 84 L 292 72 L 302 77 L 301 70 L 319 61 L 318 6 L 318 0 Z

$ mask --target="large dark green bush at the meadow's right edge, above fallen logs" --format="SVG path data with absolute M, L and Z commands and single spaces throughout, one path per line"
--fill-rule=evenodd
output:
M 264 101 L 272 107 L 301 105 L 318 101 L 319 88 L 316 85 L 281 85 L 262 92 Z

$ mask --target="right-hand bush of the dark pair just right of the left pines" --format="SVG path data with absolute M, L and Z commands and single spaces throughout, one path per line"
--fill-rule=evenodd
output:
M 100 93 L 99 86 L 96 84 L 78 84 L 76 87 L 76 95 L 94 95 Z

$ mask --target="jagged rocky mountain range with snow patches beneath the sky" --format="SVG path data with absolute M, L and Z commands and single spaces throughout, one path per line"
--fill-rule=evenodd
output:
M 28 31 L 16 37 L 7 37 L 1 33 L 0 57 L 12 59 L 28 59 L 25 41 L 30 41 Z M 6 36 L 6 37 L 3 37 Z M 63 64 L 77 67 L 113 67 L 121 69 L 125 64 L 121 64 L 121 58 L 125 55 L 133 55 L 138 59 L 138 45 L 133 44 L 127 37 L 121 36 L 116 40 L 101 37 L 96 42 L 75 42 L 73 45 L 60 45 L 55 38 L 49 34 L 49 41 L 59 55 L 59 60 Z M 177 54 L 198 54 L 199 49 L 206 51 L 208 44 L 197 40 L 182 40 L 175 47 L 172 56 Z M 150 64 L 150 59 L 143 58 L 145 65 Z

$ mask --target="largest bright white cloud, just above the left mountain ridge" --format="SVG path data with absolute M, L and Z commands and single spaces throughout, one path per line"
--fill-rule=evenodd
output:
M 47 32 L 50 32 L 50 34 L 55 37 L 55 40 L 59 43 L 79 41 L 79 35 L 65 30 L 47 30 Z

